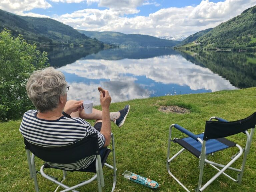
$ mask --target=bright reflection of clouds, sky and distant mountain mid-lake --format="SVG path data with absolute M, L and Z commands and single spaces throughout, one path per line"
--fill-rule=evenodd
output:
M 70 85 L 68 99 L 92 99 L 96 105 L 98 86 L 109 90 L 112 102 L 237 89 L 227 79 L 172 49 L 103 50 L 59 70 Z

